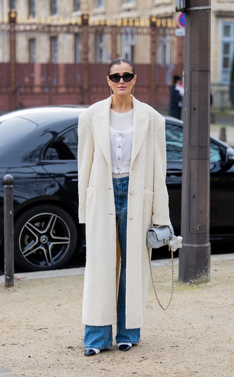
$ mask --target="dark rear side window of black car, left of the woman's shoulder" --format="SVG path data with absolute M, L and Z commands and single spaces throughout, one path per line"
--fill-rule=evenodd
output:
M 76 129 L 73 128 L 55 139 L 47 148 L 44 159 L 75 160 L 77 158 L 78 141 Z

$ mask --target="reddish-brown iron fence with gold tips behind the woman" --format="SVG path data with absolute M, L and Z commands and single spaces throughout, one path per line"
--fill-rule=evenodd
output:
M 168 86 L 182 75 L 183 37 L 170 19 L 92 23 L 83 14 L 57 24 L 0 23 L 0 110 L 43 104 L 91 104 L 109 95 L 106 76 L 116 57 L 131 60 L 136 97 L 168 108 Z

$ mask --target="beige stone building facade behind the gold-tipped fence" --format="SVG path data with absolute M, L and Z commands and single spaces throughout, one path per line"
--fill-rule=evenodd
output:
M 7 20 L 8 12 L 11 8 L 17 11 L 17 20 L 20 22 L 45 22 L 45 23 L 79 23 L 82 14 L 89 15 L 89 23 L 107 23 L 118 24 L 120 20 L 138 20 L 141 25 L 148 25 L 151 15 L 157 17 L 157 22 L 167 22 L 170 26 L 175 25 L 177 14 L 175 13 L 174 0 L 2 0 L 1 1 L 1 18 Z M 132 24 L 134 26 L 134 24 Z M 129 24 L 131 27 L 131 23 Z M 23 37 L 22 37 L 23 38 Z M 63 43 L 56 36 L 48 40 L 49 48 L 47 51 L 36 51 L 37 38 L 33 34 L 27 41 L 21 41 L 20 51 L 18 52 L 19 61 L 41 61 L 46 62 L 49 54 L 53 55 L 52 62 L 72 62 L 82 59 L 82 47 L 79 35 L 75 37 L 67 36 Z M 63 38 L 66 38 L 63 36 Z M 92 39 L 93 38 L 93 39 Z M 109 63 L 111 56 L 109 54 L 109 44 L 111 40 L 104 38 L 101 33 L 93 35 L 90 40 L 93 46 L 90 51 L 90 59 L 96 63 Z M 130 32 L 124 41 L 126 51 L 118 51 L 128 58 L 133 58 L 136 63 L 147 62 L 146 37 L 142 37 L 142 48 L 136 46 L 134 33 Z M 171 37 L 168 36 L 168 40 Z M 8 46 L 3 36 L 0 38 L 1 51 L 0 61 L 7 59 Z M 158 60 L 164 60 L 165 63 L 173 63 L 173 43 L 176 48 L 176 42 L 167 41 L 167 37 L 161 38 L 161 46 L 158 49 Z M 65 47 L 64 47 L 65 46 Z M 75 48 L 74 48 L 75 46 Z M 143 51 L 144 47 L 144 51 Z M 66 58 L 61 60 L 63 49 L 66 48 Z M 52 52 L 51 52 L 52 50 Z M 75 51 L 74 51 L 75 50 Z M 68 52 L 70 51 L 70 52 Z M 161 51 L 161 52 L 160 52 Z M 27 53 L 26 53 L 27 52 Z M 232 60 L 234 57 L 234 1 L 233 0 L 212 0 L 211 1 L 211 82 L 228 84 Z

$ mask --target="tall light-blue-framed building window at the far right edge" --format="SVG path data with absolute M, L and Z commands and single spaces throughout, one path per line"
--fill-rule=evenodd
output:
M 234 22 L 222 24 L 222 63 L 221 81 L 229 84 L 231 81 L 232 62 L 234 59 Z

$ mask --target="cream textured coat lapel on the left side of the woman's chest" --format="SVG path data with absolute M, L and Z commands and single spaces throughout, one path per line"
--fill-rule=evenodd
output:
M 110 103 L 111 98 L 100 103 L 100 106 L 93 115 L 93 127 L 95 130 L 95 138 L 106 158 L 109 169 L 112 169 L 110 154 Z

